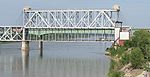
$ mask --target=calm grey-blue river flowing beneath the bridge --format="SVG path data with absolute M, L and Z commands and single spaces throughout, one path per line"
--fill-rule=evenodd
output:
M 0 77 L 107 77 L 110 42 L 30 42 L 30 55 L 21 55 L 21 43 L 0 44 Z

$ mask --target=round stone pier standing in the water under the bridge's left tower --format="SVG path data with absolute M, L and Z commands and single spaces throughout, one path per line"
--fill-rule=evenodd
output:
M 22 55 L 29 56 L 29 41 L 22 41 Z

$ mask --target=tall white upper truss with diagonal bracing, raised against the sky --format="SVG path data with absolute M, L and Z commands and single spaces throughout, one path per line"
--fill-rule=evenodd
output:
M 26 10 L 25 28 L 110 28 L 116 27 L 117 10 Z

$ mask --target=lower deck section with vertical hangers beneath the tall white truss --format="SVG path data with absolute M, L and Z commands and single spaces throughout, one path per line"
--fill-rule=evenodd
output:
M 26 40 L 106 41 L 114 40 L 113 29 L 27 29 Z

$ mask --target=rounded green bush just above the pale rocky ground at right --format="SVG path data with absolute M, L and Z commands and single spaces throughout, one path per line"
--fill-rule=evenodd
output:
M 144 64 L 144 55 L 140 48 L 134 48 L 130 54 L 130 62 L 133 68 L 141 68 Z

